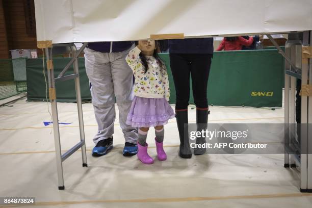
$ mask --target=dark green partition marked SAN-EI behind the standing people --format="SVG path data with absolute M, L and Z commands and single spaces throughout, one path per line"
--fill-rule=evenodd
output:
M 170 103 L 175 103 L 175 88 L 168 54 L 164 60 L 170 82 Z M 70 58 L 55 58 L 56 76 Z M 218 51 L 214 53 L 207 87 L 210 105 L 281 107 L 284 79 L 284 60 L 276 49 Z M 79 71 L 83 100 L 91 100 L 84 58 L 79 58 Z M 71 68 L 67 74 L 73 72 Z M 190 80 L 191 85 L 191 80 Z M 192 85 L 191 85 L 192 86 Z M 42 59 L 27 60 L 28 100 L 45 100 L 45 82 Z M 57 101 L 75 101 L 74 81 L 56 83 Z M 194 103 L 191 87 L 190 103 Z

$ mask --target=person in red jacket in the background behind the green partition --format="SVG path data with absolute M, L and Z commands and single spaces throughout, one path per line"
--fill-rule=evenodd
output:
M 253 38 L 249 37 L 248 40 L 243 38 L 242 36 L 239 37 L 224 37 L 221 44 L 217 48 L 219 50 L 241 50 L 243 45 L 249 46 L 252 44 Z

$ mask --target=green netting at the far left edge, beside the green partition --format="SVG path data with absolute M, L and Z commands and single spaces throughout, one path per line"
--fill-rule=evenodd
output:
M 27 92 L 26 59 L 0 59 L 0 100 Z

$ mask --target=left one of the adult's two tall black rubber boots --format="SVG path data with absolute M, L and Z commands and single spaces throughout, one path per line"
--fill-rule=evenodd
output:
M 185 123 L 188 124 L 188 110 L 185 109 L 182 111 L 181 110 L 175 111 L 175 117 L 180 138 L 179 156 L 185 159 L 192 158 L 188 127 L 187 126 L 184 127 Z

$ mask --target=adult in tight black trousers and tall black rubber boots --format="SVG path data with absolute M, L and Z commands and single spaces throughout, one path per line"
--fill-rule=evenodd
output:
M 168 41 L 170 67 L 176 91 L 175 113 L 179 131 L 181 158 L 191 158 L 189 144 L 188 105 L 190 98 L 190 76 L 196 105 L 197 131 L 206 128 L 208 121 L 207 83 L 213 56 L 213 38 L 173 39 Z M 196 144 L 203 144 L 205 138 L 196 138 Z M 205 148 L 195 148 L 195 154 L 203 154 Z

